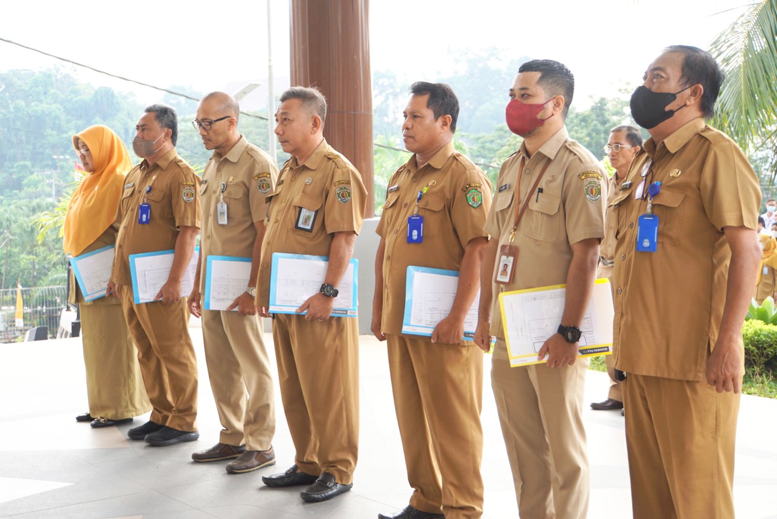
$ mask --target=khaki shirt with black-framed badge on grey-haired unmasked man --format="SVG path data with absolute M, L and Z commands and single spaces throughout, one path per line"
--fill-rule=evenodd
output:
M 267 196 L 267 231 L 256 280 L 256 305 L 270 304 L 270 265 L 275 252 L 329 256 L 334 233 L 359 233 L 367 189 L 359 171 L 321 140 L 302 164 L 291 157 Z

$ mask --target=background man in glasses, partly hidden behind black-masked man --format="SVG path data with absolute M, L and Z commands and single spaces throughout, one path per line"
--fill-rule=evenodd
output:
M 610 164 L 615 168 L 615 174 L 611 176 L 608 189 L 608 201 L 615 197 L 622 182 L 629 172 L 629 166 L 642 147 L 642 135 L 634 126 L 615 126 L 610 130 L 610 138 L 605 144 L 605 153 L 610 159 Z M 607 278 L 612 282 L 612 265 L 615 265 L 615 222 L 610 209 L 605 213 L 605 237 L 601 240 L 599 248 L 599 268 L 596 277 Z M 615 294 L 613 294 L 615 296 Z M 610 392 L 604 402 L 591 403 L 591 409 L 598 411 L 622 410 L 623 389 L 621 382 L 615 379 L 615 360 L 612 355 L 605 356 L 607 373 L 610 375 Z

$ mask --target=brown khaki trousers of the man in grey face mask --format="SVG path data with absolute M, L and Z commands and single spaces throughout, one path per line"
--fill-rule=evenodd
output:
M 120 288 L 127 328 L 138 347 L 151 420 L 179 431 L 197 431 L 197 358 L 189 337 L 186 298 L 166 305 L 161 301 L 133 302 L 132 287 Z

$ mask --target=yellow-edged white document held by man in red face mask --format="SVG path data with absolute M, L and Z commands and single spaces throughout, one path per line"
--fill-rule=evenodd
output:
M 540 364 L 542 344 L 556 334 L 566 300 L 565 285 L 502 292 L 499 296 L 504 338 L 511 366 Z M 594 293 L 580 323 L 579 356 L 593 357 L 612 352 L 612 292 L 607 279 L 597 279 Z

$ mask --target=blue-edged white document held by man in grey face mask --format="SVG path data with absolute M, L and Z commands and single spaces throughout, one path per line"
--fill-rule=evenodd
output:
M 151 303 L 155 300 L 154 298 L 162 289 L 162 285 L 167 282 L 170 276 L 174 253 L 175 251 L 158 251 L 130 254 L 130 272 L 135 304 Z M 199 256 L 200 249 L 197 247 L 194 249 L 189 265 L 183 273 L 183 279 L 181 279 L 181 297 L 188 297 L 192 291 Z

